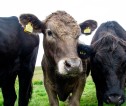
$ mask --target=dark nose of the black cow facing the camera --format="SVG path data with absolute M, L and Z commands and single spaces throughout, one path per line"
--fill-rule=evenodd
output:
M 120 105 L 123 102 L 124 102 L 124 98 L 121 95 L 109 95 L 107 97 L 107 103 Z

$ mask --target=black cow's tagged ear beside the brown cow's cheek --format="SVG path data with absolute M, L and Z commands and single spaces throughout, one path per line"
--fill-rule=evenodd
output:
M 93 54 L 93 49 L 88 45 L 78 44 L 77 52 L 81 59 L 86 59 Z

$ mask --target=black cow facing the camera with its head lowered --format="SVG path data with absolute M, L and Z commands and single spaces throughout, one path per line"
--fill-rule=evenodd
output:
M 90 68 L 96 86 L 98 106 L 125 101 L 126 32 L 115 21 L 101 24 L 92 42 Z

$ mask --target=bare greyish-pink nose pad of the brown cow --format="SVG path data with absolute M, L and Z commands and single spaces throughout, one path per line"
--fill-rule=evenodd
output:
M 69 58 L 65 60 L 65 69 L 67 71 L 78 71 L 80 64 L 81 64 L 81 60 L 79 58 Z

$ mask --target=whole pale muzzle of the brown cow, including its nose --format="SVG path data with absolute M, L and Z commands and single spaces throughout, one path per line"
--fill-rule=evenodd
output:
M 66 58 L 59 61 L 58 69 L 60 74 L 75 76 L 83 71 L 82 61 L 80 58 Z

